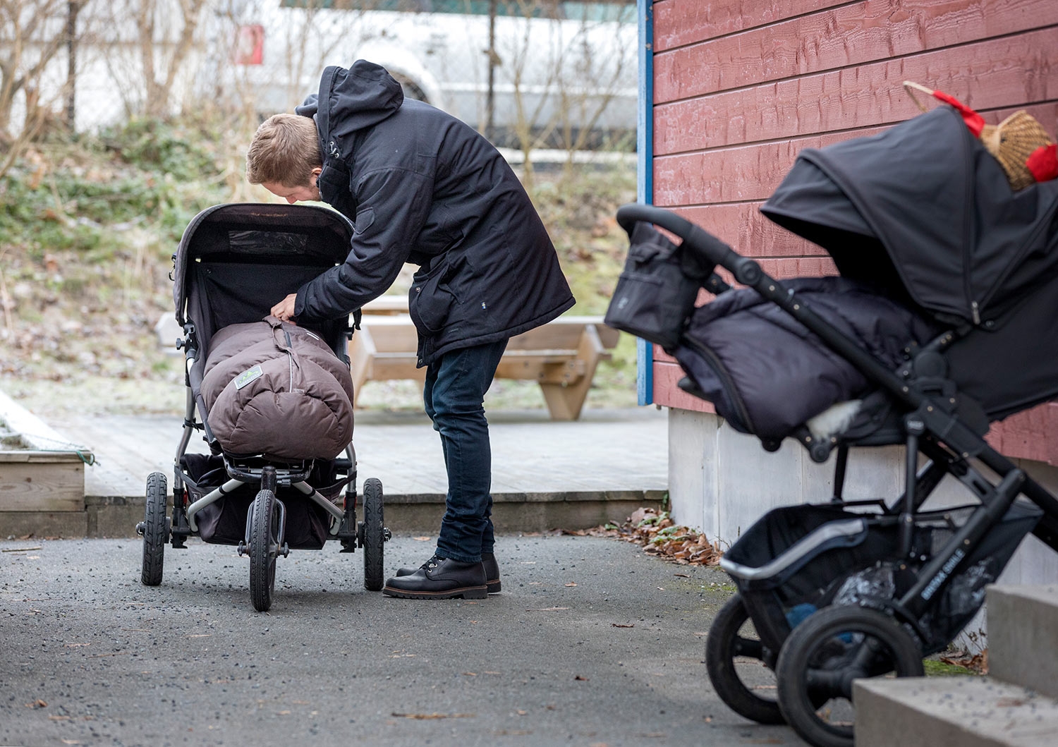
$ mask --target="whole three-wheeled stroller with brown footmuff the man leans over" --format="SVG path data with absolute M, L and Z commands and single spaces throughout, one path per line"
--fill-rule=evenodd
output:
M 313 327 L 270 316 L 273 304 L 342 265 L 351 223 L 323 207 L 215 205 L 184 231 L 174 302 L 184 338 L 186 411 L 172 496 L 147 479 L 141 579 L 162 582 L 166 544 L 236 545 L 250 558 L 250 597 L 272 605 L 276 560 L 338 540 L 364 550 L 364 586 L 382 588 L 382 484 L 363 484 L 358 520 L 348 320 Z M 357 315 L 353 314 L 353 318 Z M 188 451 L 201 433 L 208 453 Z

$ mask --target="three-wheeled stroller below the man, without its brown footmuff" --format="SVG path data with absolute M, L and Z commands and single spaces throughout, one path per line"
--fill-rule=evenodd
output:
M 351 441 L 344 456 L 339 445 L 339 453 L 327 458 L 229 453 L 211 429 L 203 399 L 206 356 L 217 333 L 232 325 L 259 323 L 278 299 L 344 262 L 351 236 L 352 225 L 332 211 L 255 203 L 215 205 L 199 213 L 184 231 L 172 255 L 171 277 L 177 322 L 184 330 L 177 347 L 185 354 L 186 411 L 174 463 L 171 516 L 166 516 L 165 475 L 154 472 L 147 478 L 146 514 L 136 527 L 143 535 L 144 584 L 162 582 L 167 542 L 174 549 L 185 549 L 187 538 L 198 536 L 236 545 L 240 555 L 250 555 L 250 596 L 258 612 L 272 605 L 276 559 L 287 557 L 291 548 L 321 549 L 327 540 L 338 540 L 342 552 L 363 548 L 364 586 L 382 588 L 383 543 L 389 539 L 382 484 L 377 478 L 364 481 L 363 521 L 358 522 Z M 352 331 L 347 318 L 309 330 L 336 357 L 343 372 L 348 369 L 346 345 Z M 325 349 L 323 354 L 330 352 Z M 348 387 L 351 390 L 351 381 Z M 350 402 L 349 433 L 351 420 Z M 203 433 L 209 454 L 188 453 L 195 431 Z

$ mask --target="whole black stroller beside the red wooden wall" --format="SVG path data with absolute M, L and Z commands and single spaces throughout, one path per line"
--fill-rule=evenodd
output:
M 780 281 L 673 213 L 625 205 L 606 321 L 663 346 L 680 387 L 766 450 L 836 453 L 829 500 L 768 512 L 725 554 L 738 593 L 706 660 L 741 715 L 844 747 L 855 678 L 922 675 L 1025 534 L 1058 550 L 1058 499 L 983 438 L 1058 396 L 1058 181 L 1011 192 L 945 107 L 803 151 L 762 212 L 841 276 Z M 716 297 L 693 309 L 701 288 Z M 884 444 L 906 445 L 904 494 L 844 500 L 850 448 Z M 924 506 L 946 475 L 970 503 Z

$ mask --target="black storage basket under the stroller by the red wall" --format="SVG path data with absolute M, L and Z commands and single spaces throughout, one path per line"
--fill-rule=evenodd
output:
M 920 512 L 910 552 L 901 554 L 900 517 L 835 506 L 773 509 L 744 533 L 720 560 L 756 623 L 761 640 L 778 655 L 799 623 L 828 605 L 852 604 L 892 612 L 897 618 L 927 562 L 942 551 L 975 507 Z M 961 570 L 917 619 L 905 620 L 924 654 L 943 650 L 977 614 L 984 587 L 1006 566 L 1041 511 L 1017 503 L 965 559 Z

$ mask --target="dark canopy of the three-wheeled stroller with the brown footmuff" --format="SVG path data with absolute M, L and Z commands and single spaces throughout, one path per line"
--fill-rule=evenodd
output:
M 267 309 L 282 297 L 284 289 L 278 286 L 292 287 L 289 292 L 293 292 L 324 270 L 344 262 L 351 238 L 349 220 L 326 207 L 253 202 L 207 207 L 187 224 L 172 257 L 177 322 L 181 326 L 186 322 L 188 294 L 199 281 L 193 272 L 195 263 L 207 262 L 215 270 L 247 266 L 247 272 L 240 273 L 247 286 L 252 285 L 252 274 L 258 283 L 271 277 L 268 285 L 277 287 L 261 298 Z M 257 267 L 251 270 L 251 266 Z M 274 271 L 260 271 L 268 267 Z M 221 273 L 212 274 L 218 279 Z M 238 275 L 232 281 L 239 284 Z M 255 314 L 237 321 L 262 316 Z

